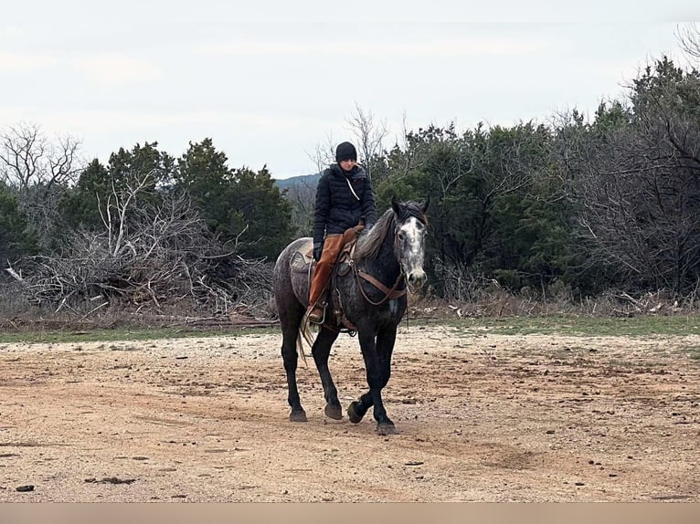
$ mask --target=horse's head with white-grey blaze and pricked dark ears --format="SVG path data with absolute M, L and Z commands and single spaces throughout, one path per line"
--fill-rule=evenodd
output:
M 396 217 L 394 251 L 410 288 L 420 288 L 426 278 L 423 260 L 429 204 L 430 197 L 422 204 L 398 202 L 395 196 L 391 198 Z

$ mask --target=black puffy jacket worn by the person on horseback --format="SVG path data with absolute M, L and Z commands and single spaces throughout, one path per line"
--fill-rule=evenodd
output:
M 316 188 L 313 244 L 319 245 L 325 235 L 344 233 L 361 219 L 367 228 L 377 222 L 375 193 L 367 173 L 359 165 L 345 172 L 338 164 L 332 164 L 323 171 Z

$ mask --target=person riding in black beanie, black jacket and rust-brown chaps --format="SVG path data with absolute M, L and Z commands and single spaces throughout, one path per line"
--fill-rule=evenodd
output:
M 346 242 L 377 222 L 375 194 L 365 169 L 357 163 L 355 146 L 344 141 L 335 148 L 335 162 L 316 187 L 313 210 L 313 258 L 316 269 L 309 291 L 309 320 L 323 322 L 319 302 L 335 260 Z M 344 235 L 345 234 L 345 235 Z

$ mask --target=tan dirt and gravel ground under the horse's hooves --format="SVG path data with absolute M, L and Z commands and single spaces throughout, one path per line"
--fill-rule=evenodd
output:
M 700 337 L 402 327 L 390 436 L 326 419 L 311 357 L 290 423 L 280 345 L 0 344 L 0 502 L 700 501 Z M 331 370 L 366 391 L 356 339 Z

